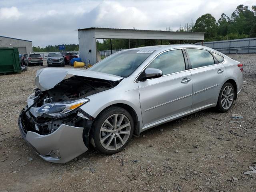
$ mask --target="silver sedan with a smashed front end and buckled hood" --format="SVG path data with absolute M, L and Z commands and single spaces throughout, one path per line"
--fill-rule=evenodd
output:
M 210 107 L 228 111 L 242 71 L 240 62 L 196 45 L 123 50 L 88 70 L 44 68 L 20 132 L 49 162 L 68 162 L 89 143 L 114 154 L 149 128 Z

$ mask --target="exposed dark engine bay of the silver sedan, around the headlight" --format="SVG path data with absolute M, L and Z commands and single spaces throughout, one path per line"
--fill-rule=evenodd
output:
M 26 131 L 37 132 L 41 135 L 53 133 L 61 124 L 76 127 L 88 127 L 93 118 L 80 110 L 79 107 L 66 113 L 64 116 L 49 116 L 48 114 L 35 115 L 35 111 L 47 106 L 47 104 L 58 104 L 65 102 L 76 102 L 87 96 L 108 90 L 116 86 L 118 81 L 103 80 L 97 78 L 89 78 L 83 76 L 71 76 L 56 84 L 54 88 L 41 91 L 36 88 L 34 96 L 28 98 L 33 104 L 27 106 L 21 113 L 22 127 Z

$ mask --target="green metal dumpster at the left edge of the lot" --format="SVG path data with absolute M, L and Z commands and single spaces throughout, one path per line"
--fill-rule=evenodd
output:
M 20 71 L 18 48 L 0 48 L 0 74 Z

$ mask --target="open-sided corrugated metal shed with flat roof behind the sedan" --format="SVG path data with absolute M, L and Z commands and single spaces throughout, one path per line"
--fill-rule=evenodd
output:
M 84 28 L 78 29 L 79 51 L 82 61 L 90 64 L 97 62 L 97 39 L 154 39 L 154 40 L 196 40 L 204 41 L 204 33 L 170 32 L 156 30 Z

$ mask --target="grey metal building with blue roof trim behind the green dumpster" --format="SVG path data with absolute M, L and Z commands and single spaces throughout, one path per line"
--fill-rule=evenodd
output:
M 20 54 L 32 52 L 32 41 L 0 36 L 0 47 L 16 47 Z

